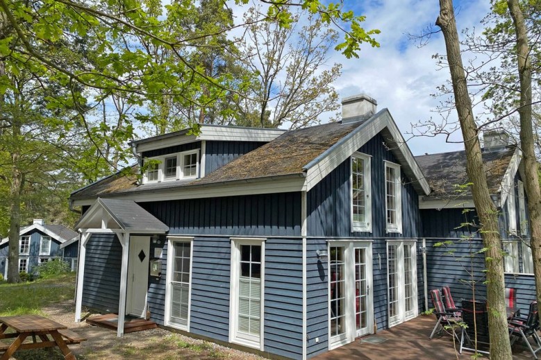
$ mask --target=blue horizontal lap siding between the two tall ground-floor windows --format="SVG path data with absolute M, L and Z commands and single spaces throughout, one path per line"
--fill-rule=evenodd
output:
M 193 246 L 190 332 L 228 341 L 231 243 L 197 237 Z

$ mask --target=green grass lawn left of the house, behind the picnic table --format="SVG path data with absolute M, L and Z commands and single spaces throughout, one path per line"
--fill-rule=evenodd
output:
M 75 273 L 21 284 L 0 284 L 0 316 L 42 314 L 42 307 L 74 298 Z

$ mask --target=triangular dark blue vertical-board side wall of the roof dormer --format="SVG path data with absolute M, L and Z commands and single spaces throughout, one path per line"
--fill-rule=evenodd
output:
M 256 148 L 267 144 L 266 142 L 206 142 L 205 173 L 232 162 L 241 155 L 247 154 Z

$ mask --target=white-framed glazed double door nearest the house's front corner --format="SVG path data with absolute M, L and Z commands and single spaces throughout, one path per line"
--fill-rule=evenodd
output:
M 372 242 L 333 241 L 328 246 L 329 348 L 374 332 Z

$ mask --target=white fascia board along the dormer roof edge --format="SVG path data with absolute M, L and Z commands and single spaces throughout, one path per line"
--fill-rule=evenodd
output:
M 179 133 L 171 137 L 156 139 L 151 142 L 143 142 L 135 145 L 135 151 L 156 150 L 169 146 L 188 144 L 199 140 L 231 141 L 231 142 L 271 142 L 287 130 L 263 129 L 263 128 L 241 128 L 237 126 L 206 126 L 202 125 L 199 135 L 186 135 Z

